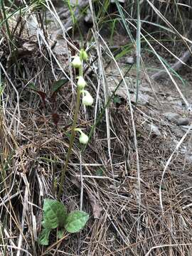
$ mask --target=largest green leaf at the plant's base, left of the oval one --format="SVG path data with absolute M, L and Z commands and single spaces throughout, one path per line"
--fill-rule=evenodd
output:
M 67 210 L 63 203 L 45 199 L 43 204 L 43 228 L 63 228 Z

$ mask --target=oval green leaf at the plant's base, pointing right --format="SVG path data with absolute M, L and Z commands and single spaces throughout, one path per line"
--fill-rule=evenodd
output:
M 65 220 L 65 229 L 69 233 L 79 232 L 87 223 L 89 215 L 80 210 L 74 210 L 68 214 Z

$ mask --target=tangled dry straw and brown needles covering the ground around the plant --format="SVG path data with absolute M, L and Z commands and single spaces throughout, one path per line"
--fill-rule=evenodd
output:
M 56 198 L 75 105 L 73 83 L 55 94 L 53 85 L 65 74 L 73 78 L 70 54 L 77 48 L 68 38 L 68 55 L 56 55 L 53 45 L 40 48 L 23 30 L 16 63 L 6 29 L 0 41 L 1 255 L 191 255 L 191 162 L 177 151 L 166 166 L 173 152 L 169 126 L 161 136 L 150 133 L 147 106 L 112 100 L 101 115 L 106 63 L 117 63 L 99 38 L 87 47 L 85 65 L 95 107 L 81 107 L 78 125 L 90 132 L 98 122 L 85 149 L 75 139 L 60 198 L 68 210 L 82 205 L 90 220 L 78 234 L 56 240 L 52 233 L 50 246 L 38 245 L 43 198 Z

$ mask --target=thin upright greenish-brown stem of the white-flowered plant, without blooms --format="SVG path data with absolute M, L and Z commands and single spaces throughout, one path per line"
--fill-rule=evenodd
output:
M 82 65 L 79 68 L 79 75 L 82 75 Z M 65 174 L 68 168 L 68 163 L 69 163 L 69 159 L 70 159 L 70 154 L 72 151 L 72 147 L 73 147 L 73 142 L 75 139 L 75 127 L 78 121 L 78 112 L 80 110 L 80 95 L 81 95 L 81 89 L 80 87 L 78 87 L 78 91 L 77 91 L 77 96 L 76 96 L 76 107 L 75 107 L 75 113 L 74 113 L 74 117 L 73 117 L 73 125 L 71 128 L 71 135 L 70 135 L 70 144 L 69 144 L 69 148 L 68 148 L 68 154 L 65 160 L 65 166 L 62 170 L 62 174 L 60 177 L 60 185 L 59 185 L 59 191 L 58 191 L 58 199 L 60 198 L 61 194 L 63 193 L 63 182 L 65 179 Z

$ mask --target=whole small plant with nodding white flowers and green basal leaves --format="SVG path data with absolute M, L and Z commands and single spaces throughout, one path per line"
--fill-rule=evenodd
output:
M 70 153 L 73 148 L 73 142 L 75 139 L 75 132 L 80 134 L 79 142 L 81 144 L 87 144 L 89 141 L 89 137 L 87 134 L 82 132 L 82 130 L 77 126 L 78 122 L 78 113 L 80 110 L 80 98 L 82 95 L 82 105 L 91 106 L 93 104 L 93 98 L 85 89 L 87 83 L 83 77 L 83 61 L 87 61 L 88 56 L 85 50 L 80 50 L 79 55 L 76 55 L 73 58 L 72 65 L 73 68 L 78 68 L 78 82 L 77 82 L 77 95 L 76 95 L 76 105 L 75 105 L 75 112 L 73 117 L 73 125 L 71 129 L 70 135 L 70 144 L 68 148 L 68 154 L 65 160 L 65 166 L 62 170 L 61 177 L 60 177 L 60 185 L 58 190 L 58 199 L 60 198 L 61 194 L 63 193 L 63 182 L 65 180 L 65 173 L 68 168 L 68 162 L 70 159 Z M 43 230 L 38 238 L 38 243 L 41 245 L 48 245 L 48 238 L 50 235 L 51 230 L 58 228 L 58 238 L 62 238 L 65 231 L 68 233 L 77 233 L 79 232 L 87 223 L 89 215 L 82 210 L 74 210 L 71 213 L 67 213 L 67 210 L 63 203 L 60 203 L 56 200 L 45 199 L 43 204 Z

